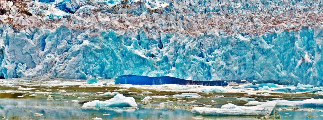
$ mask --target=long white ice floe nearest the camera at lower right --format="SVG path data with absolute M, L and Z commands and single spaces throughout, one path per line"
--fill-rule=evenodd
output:
M 191 112 L 202 115 L 267 115 L 275 113 L 275 103 L 261 104 L 257 106 L 237 106 L 225 104 L 221 108 L 194 107 Z

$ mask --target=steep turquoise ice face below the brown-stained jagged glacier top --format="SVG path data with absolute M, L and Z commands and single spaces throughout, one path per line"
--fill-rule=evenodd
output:
M 147 38 L 143 31 L 93 35 L 64 26 L 19 31 L 0 23 L 0 76 L 88 79 L 134 74 L 322 86 L 322 26 L 260 36 L 206 31 Z

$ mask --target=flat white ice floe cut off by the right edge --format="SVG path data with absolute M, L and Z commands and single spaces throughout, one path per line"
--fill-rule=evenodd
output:
M 303 101 L 288 101 L 288 100 L 274 100 L 268 102 L 250 101 L 245 105 L 259 105 L 259 104 L 273 104 L 277 103 L 277 106 L 322 106 L 323 99 L 307 99 Z

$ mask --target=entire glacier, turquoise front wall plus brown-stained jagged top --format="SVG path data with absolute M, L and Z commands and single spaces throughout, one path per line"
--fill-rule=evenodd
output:
M 0 76 L 323 85 L 322 1 L 2 0 Z

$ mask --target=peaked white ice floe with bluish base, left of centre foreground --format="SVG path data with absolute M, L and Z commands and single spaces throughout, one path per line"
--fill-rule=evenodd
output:
M 106 107 L 137 107 L 137 103 L 133 97 L 126 97 L 122 94 L 117 94 L 113 98 L 106 100 L 106 101 L 99 101 L 95 100 L 92 102 L 84 103 L 83 108 L 86 107 L 99 107 L 99 106 L 106 106 Z

